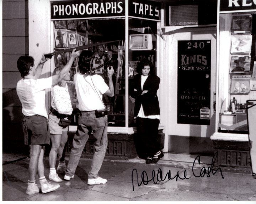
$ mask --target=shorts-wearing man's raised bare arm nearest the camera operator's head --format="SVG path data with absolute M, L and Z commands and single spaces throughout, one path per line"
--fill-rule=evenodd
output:
M 75 51 L 76 49 L 74 49 L 71 53 L 71 57 L 70 57 L 70 60 L 68 61 L 68 63 L 63 67 L 63 69 L 60 71 L 59 74 L 56 74 L 56 75 L 53 75 L 52 76 L 52 86 L 54 86 L 55 84 L 58 84 L 59 81 L 61 81 L 65 75 L 69 72 L 74 60 L 76 57 L 78 57 L 80 55 L 80 53 L 82 52 L 81 50 L 80 51 Z

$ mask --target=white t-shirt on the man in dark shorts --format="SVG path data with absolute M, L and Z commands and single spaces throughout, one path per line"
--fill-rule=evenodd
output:
M 17 94 L 26 116 L 42 115 L 48 118 L 45 106 L 45 89 L 52 87 L 52 77 L 44 79 L 21 79 L 17 83 Z

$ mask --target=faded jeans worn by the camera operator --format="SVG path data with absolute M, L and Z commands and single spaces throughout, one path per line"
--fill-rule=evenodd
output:
M 107 115 L 96 118 L 95 111 L 82 112 L 82 116 L 78 118 L 78 130 L 73 139 L 73 148 L 70 152 L 66 175 L 72 176 L 75 174 L 82 151 L 89 138 L 88 132 L 90 130 L 95 130 L 93 136 L 96 141 L 94 142 L 95 152 L 88 179 L 96 179 L 98 177 L 98 171 L 101 168 L 107 149 Z

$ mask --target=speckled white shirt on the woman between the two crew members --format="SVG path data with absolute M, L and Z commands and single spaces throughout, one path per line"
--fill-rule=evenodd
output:
M 61 114 L 72 114 L 73 108 L 67 85 L 65 87 L 59 85 L 52 87 L 52 107 Z

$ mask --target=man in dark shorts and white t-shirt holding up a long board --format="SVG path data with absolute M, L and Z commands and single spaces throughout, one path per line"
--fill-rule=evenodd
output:
M 38 66 L 34 68 L 34 58 L 31 56 L 21 56 L 18 58 L 17 67 L 22 79 L 17 83 L 17 95 L 22 104 L 23 132 L 25 144 L 31 145 L 30 162 L 28 165 L 28 187 L 27 194 L 31 195 L 39 192 L 36 185 L 36 173 L 39 177 L 42 193 L 54 191 L 59 185 L 50 184 L 44 176 L 43 155 L 44 145 L 50 144 L 50 132 L 48 126 L 48 115 L 44 102 L 46 89 L 61 81 L 68 74 L 71 65 L 81 51 L 73 50 L 69 62 L 62 71 L 49 78 L 38 79 L 42 73 L 44 63 L 49 59 L 42 56 Z

